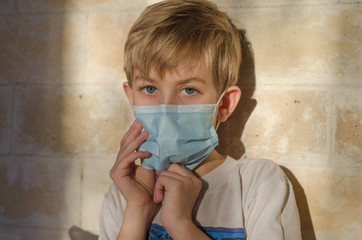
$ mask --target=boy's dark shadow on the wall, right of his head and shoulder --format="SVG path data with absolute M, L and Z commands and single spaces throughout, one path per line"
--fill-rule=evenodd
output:
M 249 117 L 257 105 L 256 100 L 252 98 L 256 81 L 254 54 L 252 45 L 245 36 L 245 32 L 245 30 L 239 30 L 243 61 L 240 66 L 237 86 L 240 87 L 242 95 L 234 113 L 218 129 L 219 146 L 216 148 L 221 154 L 229 155 L 235 159 L 240 159 L 245 153 L 245 146 L 241 141 L 241 136 Z M 304 190 L 288 168 L 282 166 L 282 170 L 293 185 L 301 221 L 302 239 L 316 240 Z

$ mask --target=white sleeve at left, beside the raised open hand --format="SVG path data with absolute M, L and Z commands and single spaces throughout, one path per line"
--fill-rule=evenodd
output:
M 115 240 L 121 229 L 126 201 L 112 184 L 106 193 L 99 219 L 100 235 L 98 240 Z

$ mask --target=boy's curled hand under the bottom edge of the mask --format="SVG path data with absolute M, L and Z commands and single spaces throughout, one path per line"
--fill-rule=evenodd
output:
M 166 231 L 180 232 L 182 226 L 194 225 L 192 210 L 200 193 L 202 183 L 186 167 L 173 163 L 166 171 L 157 173 L 154 187 L 154 202 L 162 203 L 161 221 Z

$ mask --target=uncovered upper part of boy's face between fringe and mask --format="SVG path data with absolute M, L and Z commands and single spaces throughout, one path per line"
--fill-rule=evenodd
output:
M 203 64 L 196 67 L 181 65 L 174 71 L 166 71 L 163 78 L 151 69 L 149 76 L 135 71 L 132 88 L 125 86 L 131 104 L 212 104 L 218 94 L 212 81 L 211 71 Z

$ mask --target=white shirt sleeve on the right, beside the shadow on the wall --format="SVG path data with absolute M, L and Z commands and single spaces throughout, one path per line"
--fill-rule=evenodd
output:
M 293 187 L 280 167 L 265 160 L 252 172 L 244 205 L 247 239 L 301 240 Z

